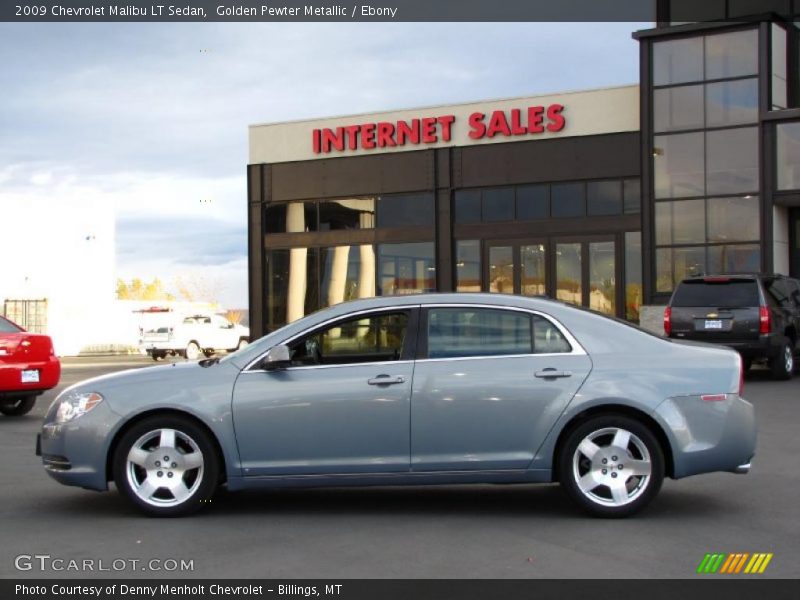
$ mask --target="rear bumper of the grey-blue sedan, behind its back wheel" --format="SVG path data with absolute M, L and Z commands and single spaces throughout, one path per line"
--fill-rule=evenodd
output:
M 700 396 L 665 400 L 655 416 L 666 427 L 676 479 L 725 471 L 745 474 L 756 453 L 753 405 L 738 394 L 707 401 Z

